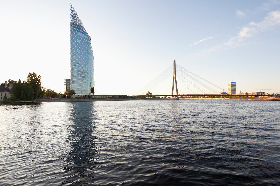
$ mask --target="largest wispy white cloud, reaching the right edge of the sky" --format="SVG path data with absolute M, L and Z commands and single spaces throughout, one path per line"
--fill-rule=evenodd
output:
M 228 42 L 224 43 L 227 46 L 240 46 L 245 38 L 256 36 L 264 30 L 271 29 L 272 27 L 280 25 L 280 12 L 272 11 L 267 14 L 262 22 L 251 22 L 240 30 L 239 34 L 232 37 Z

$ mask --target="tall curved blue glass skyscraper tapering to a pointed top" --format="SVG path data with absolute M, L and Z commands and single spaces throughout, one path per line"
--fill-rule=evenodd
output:
M 94 58 L 90 36 L 70 3 L 70 88 L 79 97 L 89 97 L 94 94 L 92 87 Z

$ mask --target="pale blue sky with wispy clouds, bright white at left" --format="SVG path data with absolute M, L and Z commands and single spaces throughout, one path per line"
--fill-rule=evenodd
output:
M 171 94 L 174 59 L 225 90 L 234 81 L 237 93 L 280 92 L 280 0 L 0 0 L 0 82 L 35 72 L 43 87 L 64 91 L 69 3 L 91 36 L 97 94 Z M 166 69 L 170 77 L 143 89 Z

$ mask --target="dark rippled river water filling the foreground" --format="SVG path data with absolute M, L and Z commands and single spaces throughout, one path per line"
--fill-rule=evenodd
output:
M 0 185 L 280 185 L 280 102 L 0 105 Z

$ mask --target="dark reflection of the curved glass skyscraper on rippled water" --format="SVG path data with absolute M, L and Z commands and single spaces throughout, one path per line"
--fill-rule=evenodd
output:
M 67 132 L 67 143 L 70 150 L 67 152 L 66 164 L 62 168 L 67 171 L 62 184 L 76 184 L 77 180 L 87 179 L 87 183 L 94 183 L 99 145 L 97 143 L 97 124 L 92 119 L 95 117 L 95 102 L 73 102 L 71 122 Z

